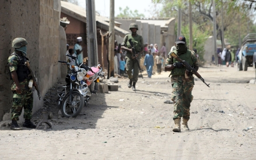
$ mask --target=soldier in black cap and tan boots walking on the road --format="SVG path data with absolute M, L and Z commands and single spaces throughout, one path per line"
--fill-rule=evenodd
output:
M 190 51 L 186 46 L 186 38 L 178 36 L 175 41 L 177 50 L 173 51 L 180 59 L 185 60 L 196 71 L 198 70 L 198 62 L 194 51 Z M 172 83 L 172 101 L 174 102 L 174 129 L 173 132 L 180 132 L 180 122 L 182 117 L 182 128 L 189 131 L 188 120 L 190 117 L 189 108 L 193 100 L 192 90 L 195 85 L 193 74 L 186 69 L 181 62 L 171 57 L 171 52 L 168 54 L 165 63 L 165 70 L 171 71 Z M 185 74 L 189 78 L 185 78 Z

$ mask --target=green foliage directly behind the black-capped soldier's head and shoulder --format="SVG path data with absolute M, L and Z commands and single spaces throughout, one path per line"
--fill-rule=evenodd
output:
M 197 54 L 201 61 L 204 60 L 204 45 L 207 38 L 210 36 L 209 31 L 202 31 L 199 26 L 193 25 L 193 49 L 197 50 Z M 189 25 L 182 26 L 181 34 L 186 37 L 187 46 L 189 48 Z

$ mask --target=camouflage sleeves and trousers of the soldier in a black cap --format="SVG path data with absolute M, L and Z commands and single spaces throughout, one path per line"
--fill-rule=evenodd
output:
M 177 53 L 177 51 L 174 51 Z M 171 53 L 171 52 L 170 52 Z M 166 65 L 172 65 L 174 62 L 177 62 L 174 58 L 171 57 L 170 53 L 165 62 Z M 179 54 L 178 54 L 179 55 Z M 182 58 L 183 56 L 183 58 Z M 196 55 L 194 51 L 187 50 L 183 55 L 179 55 L 180 59 L 185 60 L 186 62 L 193 63 L 191 66 L 198 66 Z M 187 57 L 187 59 L 186 59 Z M 183 117 L 184 119 L 189 119 L 190 112 L 190 103 L 193 100 L 192 90 L 195 85 L 193 75 L 189 76 L 189 81 L 185 80 L 185 70 L 183 67 L 182 72 L 179 74 L 173 69 L 171 71 L 171 83 L 172 83 L 172 101 L 174 102 L 174 116 L 173 120 Z

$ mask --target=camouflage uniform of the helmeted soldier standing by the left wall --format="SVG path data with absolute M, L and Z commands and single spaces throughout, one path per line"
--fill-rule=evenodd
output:
M 23 59 L 27 59 L 25 56 L 21 55 Z M 28 60 L 28 59 L 27 59 Z M 25 61 L 20 61 L 17 55 L 11 54 L 8 58 L 10 72 L 17 71 L 19 63 L 24 64 Z M 12 81 L 11 90 L 13 92 L 13 103 L 11 110 L 11 119 L 19 121 L 19 116 L 21 115 L 22 108 L 24 107 L 24 115 L 25 119 L 31 119 L 32 117 L 32 108 L 33 108 L 33 92 L 28 87 L 30 78 L 24 79 L 20 83 L 21 86 L 21 94 L 16 92 L 16 84 Z

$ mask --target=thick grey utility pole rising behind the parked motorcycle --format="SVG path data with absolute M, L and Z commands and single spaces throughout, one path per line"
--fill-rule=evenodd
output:
M 97 28 L 95 20 L 95 1 L 86 0 L 86 34 L 87 34 L 87 53 L 88 66 L 98 65 L 98 44 Z

